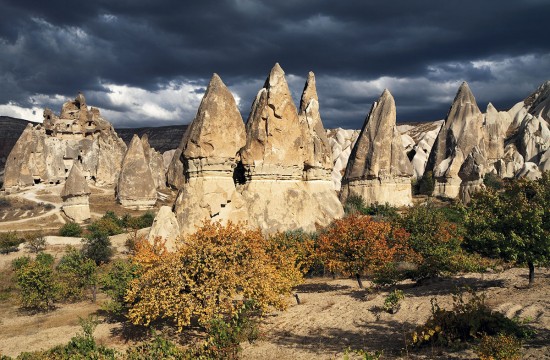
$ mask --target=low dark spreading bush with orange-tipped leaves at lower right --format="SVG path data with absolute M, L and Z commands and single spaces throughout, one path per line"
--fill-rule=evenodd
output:
M 435 298 L 432 299 L 432 315 L 425 325 L 413 332 L 411 342 L 414 346 L 430 343 L 448 346 L 499 333 L 517 338 L 532 335 L 524 325 L 492 311 L 485 305 L 484 295 L 468 290 L 453 295 L 452 310 L 441 309 Z

